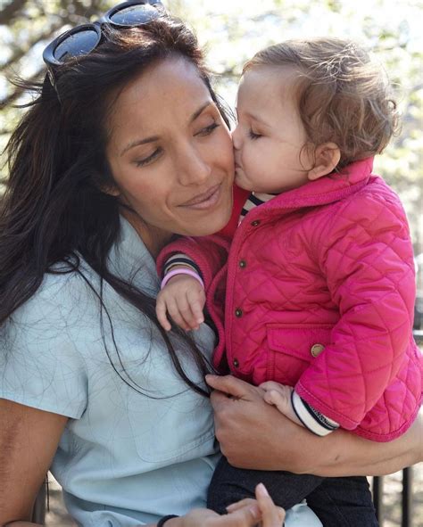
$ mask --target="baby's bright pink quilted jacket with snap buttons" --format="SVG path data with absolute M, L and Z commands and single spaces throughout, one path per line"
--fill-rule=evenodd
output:
M 422 361 L 407 220 L 371 169 L 371 159 L 357 161 L 278 195 L 248 213 L 232 242 L 181 238 L 158 268 L 178 251 L 202 269 L 220 336 L 215 366 L 225 364 L 226 344 L 233 375 L 294 386 L 343 428 L 391 441 L 419 411 Z M 238 195 L 232 225 L 245 201 Z

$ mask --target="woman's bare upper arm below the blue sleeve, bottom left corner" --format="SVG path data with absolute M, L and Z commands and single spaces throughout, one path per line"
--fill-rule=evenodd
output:
M 0 527 L 30 523 L 68 418 L 0 399 Z

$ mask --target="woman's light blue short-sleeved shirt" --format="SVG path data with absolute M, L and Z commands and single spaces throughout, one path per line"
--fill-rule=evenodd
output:
M 154 261 L 120 223 L 110 267 L 154 298 Z M 70 417 L 51 470 L 79 525 L 133 527 L 205 506 L 219 458 L 208 399 L 187 389 L 157 328 L 108 284 L 102 323 L 99 278 L 83 261 L 81 269 L 46 275 L 4 326 L 0 397 Z M 210 358 L 211 329 L 202 325 L 195 339 Z M 187 375 L 202 383 L 186 345 L 172 342 Z M 288 527 L 320 524 L 305 506 L 290 514 Z

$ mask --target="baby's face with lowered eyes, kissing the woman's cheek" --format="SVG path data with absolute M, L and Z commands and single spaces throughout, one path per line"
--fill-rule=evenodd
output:
M 277 194 L 307 183 L 312 160 L 294 97 L 295 74 L 272 66 L 247 70 L 238 89 L 232 134 L 236 185 Z

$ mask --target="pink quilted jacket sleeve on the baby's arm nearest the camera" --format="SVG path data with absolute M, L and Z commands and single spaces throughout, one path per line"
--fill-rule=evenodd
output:
M 411 239 L 401 203 L 383 192 L 343 203 L 320 233 L 317 258 L 340 319 L 295 391 L 352 430 L 394 379 L 411 339 Z

